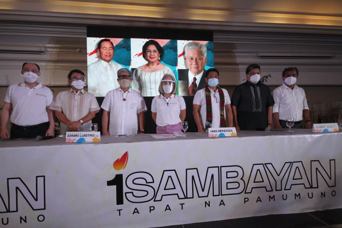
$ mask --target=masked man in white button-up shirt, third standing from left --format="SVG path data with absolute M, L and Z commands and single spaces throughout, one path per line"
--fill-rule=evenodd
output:
M 144 133 L 147 108 L 142 95 L 130 88 L 131 72 L 117 71 L 120 87 L 109 91 L 102 102 L 102 135 L 134 135 Z

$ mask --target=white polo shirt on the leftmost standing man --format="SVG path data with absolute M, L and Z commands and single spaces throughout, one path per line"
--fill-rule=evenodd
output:
M 51 90 L 41 83 L 33 88 L 29 88 L 25 83 L 19 83 L 8 87 L 4 101 L 12 104 L 12 123 L 31 126 L 49 121 L 46 108 L 53 99 Z

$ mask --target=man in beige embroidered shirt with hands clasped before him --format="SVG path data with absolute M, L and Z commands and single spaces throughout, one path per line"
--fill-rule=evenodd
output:
M 67 131 L 90 131 L 91 119 L 100 111 L 95 96 L 83 89 L 85 73 L 72 70 L 68 80 L 71 89 L 58 93 L 49 107 L 60 121 L 60 135 Z

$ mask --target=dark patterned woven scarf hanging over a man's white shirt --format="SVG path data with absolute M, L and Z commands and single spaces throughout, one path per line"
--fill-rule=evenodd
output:
M 220 127 L 226 127 L 226 119 L 225 119 L 225 95 L 223 94 L 223 90 L 220 87 L 217 87 L 220 95 Z M 208 85 L 205 86 L 205 103 L 206 103 L 206 120 L 205 120 L 205 130 L 211 127 L 211 122 L 213 120 L 213 113 L 211 107 L 211 92 L 208 88 Z

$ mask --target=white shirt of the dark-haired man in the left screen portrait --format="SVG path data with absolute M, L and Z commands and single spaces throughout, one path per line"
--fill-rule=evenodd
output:
M 99 59 L 88 66 L 88 92 L 97 97 L 104 97 L 109 91 L 119 87 L 117 71 L 123 68 L 120 64 Z

